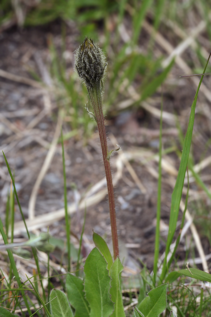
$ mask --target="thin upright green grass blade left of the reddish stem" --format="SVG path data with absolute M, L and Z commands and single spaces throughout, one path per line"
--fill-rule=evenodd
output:
M 65 172 L 65 151 L 64 151 L 64 142 L 63 142 L 63 133 L 61 127 L 61 144 L 62 144 L 62 165 L 63 165 L 63 177 L 64 177 L 64 201 L 65 201 L 65 226 L 66 226 L 66 237 L 67 237 L 67 269 L 70 272 L 70 258 L 71 258 L 71 249 L 70 249 L 70 226 L 71 218 L 68 215 L 67 210 L 67 186 L 66 186 L 66 172 Z

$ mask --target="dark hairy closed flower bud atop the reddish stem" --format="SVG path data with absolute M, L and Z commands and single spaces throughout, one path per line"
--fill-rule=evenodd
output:
M 99 85 L 103 79 L 107 63 L 97 44 L 87 36 L 75 51 L 75 68 L 87 88 Z

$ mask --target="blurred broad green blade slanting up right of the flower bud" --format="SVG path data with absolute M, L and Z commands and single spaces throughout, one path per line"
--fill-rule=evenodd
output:
M 152 94 L 156 92 L 157 88 L 161 85 L 161 83 L 164 81 L 164 79 L 170 72 L 173 64 L 174 64 L 174 59 L 171 61 L 171 63 L 164 69 L 164 71 L 160 75 L 155 77 L 146 87 L 144 87 L 144 90 L 141 94 L 140 101 L 145 100 L 146 98 L 148 98 L 149 96 L 151 96 Z

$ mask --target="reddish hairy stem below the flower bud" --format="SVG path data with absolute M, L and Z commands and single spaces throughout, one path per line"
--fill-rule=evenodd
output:
M 112 183 L 112 175 L 111 175 L 111 167 L 110 162 L 108 160 L 108 145 L 107 138 L 105 132 L 105 123 L 102 111 L 102 99 L 101 99 L 101 90 L 100 90 L 100 82 L 96 83 L 95 87 L 87 88 L 90 96 L 90 100 L 92 103 L 92 107 L 95 114 L 95 119 L 97 122 L 97 127 L 100 136 L 100 143 L 102 147 L 102 157 L 103 163 L 105 167 L 105 174 L 107 180 L 108 187 L 108 198 L 109 198 L 109 212 L 110 212 L 110 220 L 111 220 L 111 234 L 112 234 L 112 242 L 114 249 L 114 259 L 119 256 L 119 246 L 118 246 L 118 236 L 117 236 L 117 227 L 116 227 L 116 213 L 115 213 L 115 199 L 114 199 L 114 187 Z

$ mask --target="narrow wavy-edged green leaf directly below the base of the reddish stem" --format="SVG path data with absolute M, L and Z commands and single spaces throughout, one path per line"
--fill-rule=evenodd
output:
M 124 307 L 122 303 L 121 294 L 121 272 L 123 271 L 123 265 L 119 258 L 116 258 L 110 269 L 111 281 L 111 300 L 114 302 L 114 312 L 111 314 L 112 317 L 125 317 Z

